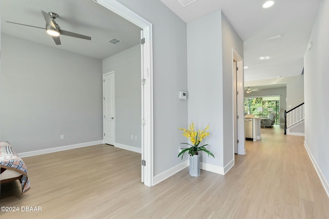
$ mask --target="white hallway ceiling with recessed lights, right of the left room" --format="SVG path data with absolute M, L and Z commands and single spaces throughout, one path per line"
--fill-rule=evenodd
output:
M 183 7 L 178 0 L 160 0 L 186 23 L 222 9 L 244 42 L 245 81 L 300 75 L 303 56 L 321 0 L 197 0 Z M 267 41 L 267 37 L 283 38 Z M 261 56 L 270 59 L 261 60 Z

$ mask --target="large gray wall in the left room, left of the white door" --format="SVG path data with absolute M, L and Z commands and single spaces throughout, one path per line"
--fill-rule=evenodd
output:
M 6 34 L 1 43 L 2 141 L 21 153 L 103 139 L 101 61 Z

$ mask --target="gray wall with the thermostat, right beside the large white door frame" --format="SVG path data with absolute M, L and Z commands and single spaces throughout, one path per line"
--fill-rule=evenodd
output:
M 154 175 L 182 161 L 177 157 L 185 138 L 187 101 L 178 98 L 187 90 L 186 23 L 160 1 L 118 0 L 153 26 L 154 70 Z

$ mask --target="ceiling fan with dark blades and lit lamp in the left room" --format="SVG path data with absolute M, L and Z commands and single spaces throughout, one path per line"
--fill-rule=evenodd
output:
M 69 32 L 66 30 L 61 30 L 60 26 L 55 22 L 56 17 L 58 17 L 57 13 L 54 12 L 49 12 L 46 13 L 44 11 L 42 11 L 43 17 L 45 18 L 46 21 L 46 28 L 43 27 L 35 27 L 35 26 L 31 26 L 31 25 L 26 25 L 26 24 L 19 24 L 19 23 L 14 23 L 14 22 L 8 22 L 11 24 L 18 24 L 18 25 L 24 25 L 24 26 L 28 26 L 28 27 L 35 27 L 35 28 L 40 28 L 40 29 L 44 29 L 46 30 L 46 32 L 52 36 L 53 41 L 55 42 L 56 45 L 61 45 L 61 40 L 60 40 L 60 35 L 65 35 L 65 36 L 72 36 L 72 37 L 76 37 L 76 38 L 81 38 L 81 39 L 87 39 L 87 40 L 91 40 L 92 37 L 90 36 L 85 36 L 85 35 L 81 35 L 78 33 L 73 33 L 73 32 Z

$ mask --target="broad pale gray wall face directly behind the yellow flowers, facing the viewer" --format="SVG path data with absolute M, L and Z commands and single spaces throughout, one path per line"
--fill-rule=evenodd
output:
M 189 122 L 193 121 L 196 129 L 204 129 L 210 125 L 211 134 L 202 144 L 209 144 L 207 147 L 215 158 L 202 153 L 201 162 L 223 168 L 221 10 L 188 23 L 187 39 Z M 202 43 L 200 39 L 203 39 Z

